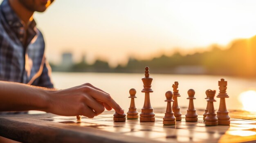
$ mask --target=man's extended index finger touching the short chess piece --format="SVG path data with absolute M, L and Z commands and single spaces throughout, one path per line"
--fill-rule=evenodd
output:
M 109 94 L 96 90 L 90 86 L 85 87 L 85 92 L 94 99 L 102 101 L 112 107 L 118 114 L 124 114 L 124 110 L 116 103 Z

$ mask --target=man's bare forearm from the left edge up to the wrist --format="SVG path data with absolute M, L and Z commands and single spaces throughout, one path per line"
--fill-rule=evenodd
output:
M 49 90 L 0 81 L 0 111 L 48 110 Z

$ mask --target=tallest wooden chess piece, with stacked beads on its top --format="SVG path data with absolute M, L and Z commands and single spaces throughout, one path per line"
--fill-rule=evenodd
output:
M 141 113 L 139 114 L 139 120 L 143 122 L 154 122 L 155 121 L 155 113 L 153 112 L 153 108 L 150 104 L 149 93 L 153 92 L 151 89 L 151 82 L 153 78 L 149 77 L 149 68 L 145 68 L 145 77 L 142 78 L 144 88 L 141 92 L 145 93 L 144 105 L 141 108 Z

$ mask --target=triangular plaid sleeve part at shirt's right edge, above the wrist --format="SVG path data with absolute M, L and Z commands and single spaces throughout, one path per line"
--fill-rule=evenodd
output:
M 54 88 L 51 80 L 51 74 L 52 74 L 52 68 L 49 65 L 48 61 L 45 59 L 45 63 L 43 65 L 43 72 L 39 77 L 37 86 Z

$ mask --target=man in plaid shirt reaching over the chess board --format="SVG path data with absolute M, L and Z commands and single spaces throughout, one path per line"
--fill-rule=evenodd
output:
M 52 1 L 3 0 L 0 5 L 0 111 L 43 110 L 94 117 L 104 108 L 114 108 L 123 114 L 108 93 L 88 83 L 66 90 L 34 87 L 53 88 L 43 35 L 33 19 L 35 11 L 45 11 Z M 74 109 L 76 105 L 79 108 Z

